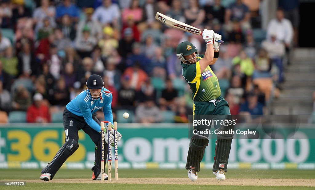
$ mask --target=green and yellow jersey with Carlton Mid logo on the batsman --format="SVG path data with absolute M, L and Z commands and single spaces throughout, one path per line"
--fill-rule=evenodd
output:
M 204 55 L 199 55 L 199 60 Z M 206 102 L 221 96 L 219 81 L 209 66 L 203 71 L 200 70 L 199 61 L 195 64 L 183 64 L 183 76 L 192 90 L 192 100 Z

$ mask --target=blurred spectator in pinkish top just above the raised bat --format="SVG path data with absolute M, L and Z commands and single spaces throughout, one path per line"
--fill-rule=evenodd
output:
M 189 0 L 188 7 L 184 10 L 186 23 L 195 27 L 199 27 L 205 18 L 205 12 L 199 7 L 198 0 Z

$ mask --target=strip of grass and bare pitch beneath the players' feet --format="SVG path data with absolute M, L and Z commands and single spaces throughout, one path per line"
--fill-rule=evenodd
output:
M 212 170 L 201 170 L 191 182 L 187 170 L 119 170 L 119 181 L 93 181 L 91 170 L 60 169 L 54 179 L 39 179 L 41 170 L 2 169 L 0 181 L 25 181 L 25 186 L 0 189 L 314 189 L 314 170 L 229 170 L 225 181 L 215 179 Z M 280 185 L 280 186 L 279 186 Z M 298 187 L 297 187 L 298 186 Z M 306 187 L 311 186 L 311 187 Z

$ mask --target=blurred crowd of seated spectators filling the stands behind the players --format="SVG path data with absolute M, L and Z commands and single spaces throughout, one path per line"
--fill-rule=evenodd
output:
M 129 122 L 187 122 L 191 91 L 175 50 L 190 41 L 203 54 L 206 44 L 163 25 L 157 12 L 221 34 L 212 70 L 231 114 L 270 114 L 298 25 L 284 18 L 298 5 L 283 2 L 264 31 L 260 0 L 1 0 L 1 118 L 23 111 L 27 122 L 54 122 L 98 74 L 114 120 L 127 111 Z

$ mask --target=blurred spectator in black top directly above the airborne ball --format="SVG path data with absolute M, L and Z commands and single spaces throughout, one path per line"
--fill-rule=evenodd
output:
M 136 103 L 136 91 L 129 85 L 130 77 L 124 76 L 121 80 L 121 88 L 118 91 L 117 109 L 134 109 Z

